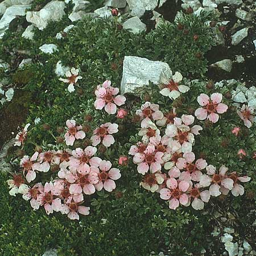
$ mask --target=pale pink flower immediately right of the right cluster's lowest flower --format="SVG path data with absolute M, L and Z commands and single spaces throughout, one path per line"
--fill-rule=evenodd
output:
M 195 184 L 194 186 L 191 185 L 188 189 L 188 205 L 191 203 L 191 206 L 195 210 L 201 210 L 204 209 L 204 203 L 208 203 L 210 200 L 210 192 L 209 190 L 201 191 L 201 186 L 199 183 Z M 186 206 L 188 206 L 186 205 Z

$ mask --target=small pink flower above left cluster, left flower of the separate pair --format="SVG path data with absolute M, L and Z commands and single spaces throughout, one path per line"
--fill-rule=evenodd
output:
M 76 121 L 73 119 L 68 119 L 66 121 L 68 127 L 67 133 L 65 133 L 65 142 L 68 146 L 73 146 L 75 139 L 84 139 L 85 133 L 82 130 L 82 126 L 76 126 Z

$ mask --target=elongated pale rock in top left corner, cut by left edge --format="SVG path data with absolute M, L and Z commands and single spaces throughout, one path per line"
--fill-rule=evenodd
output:
M 16 16 L 26 15 L 26 9 L 29 9 L 31 5 L 13 5 L 6 9 L 0 20 L 0 38 L 5 34 L 4 32 L 9 28 L 9 24 Z

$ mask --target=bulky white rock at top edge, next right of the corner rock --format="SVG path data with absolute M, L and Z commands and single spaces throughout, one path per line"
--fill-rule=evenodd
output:
M 40 11 L 28 11 L 26 19 L 28 22 L 34 24 L 39 30 L 46 28 L 48 22 L 57 21 L 62 18 L 65 3 L 60 1 L 51 1 L 47 3 Z

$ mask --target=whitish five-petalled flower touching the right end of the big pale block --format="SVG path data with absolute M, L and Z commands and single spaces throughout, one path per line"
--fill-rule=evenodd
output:
M 172 72 L 167 75 L 167 77 L 162 77 L 161 82 L 164 86 L 160 90 L 160 94 L 163 96 L 168 96 L 169 98 L 175 100 L 180 96 L 181 93 L 188 92 L 189 87 L 186 85 L 179 85 L 179 82 L 183 79 L 183 76 L 179 72 L 175 72 L 172 76 Z

